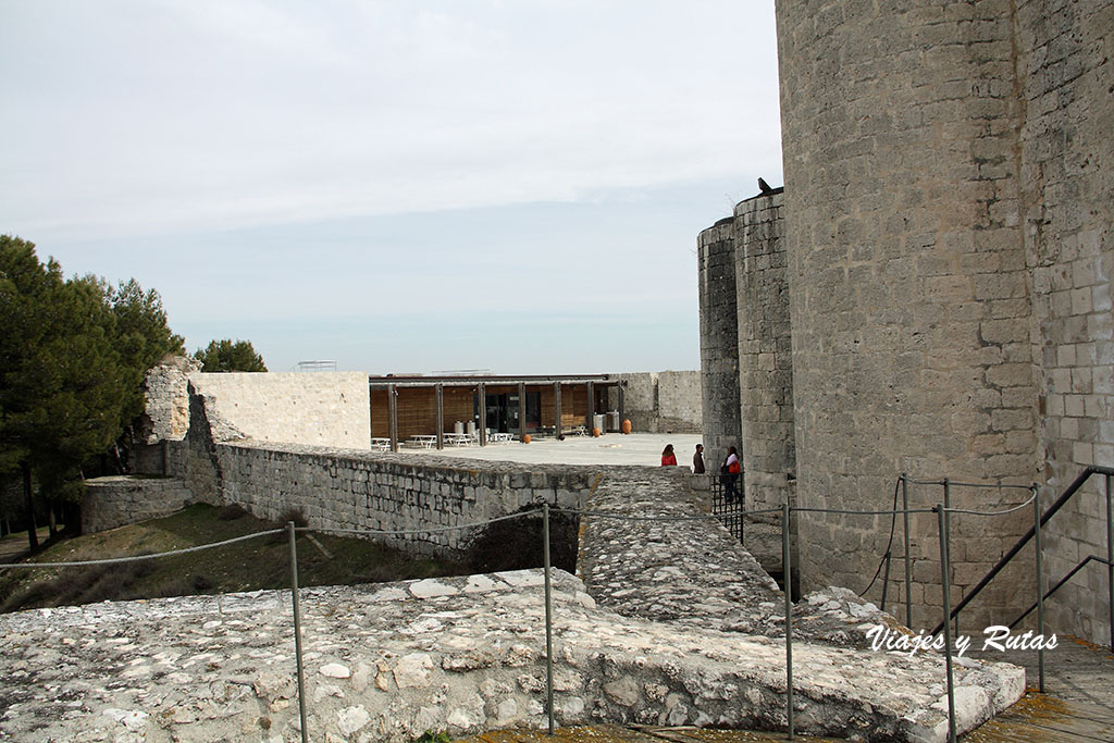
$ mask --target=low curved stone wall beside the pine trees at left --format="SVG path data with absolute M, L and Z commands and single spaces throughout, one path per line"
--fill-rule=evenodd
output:
M 189 488 L 178 479 L 100 477 L 86 480 L 85 486 L 82 534 L 169 516 L 194 502 Z

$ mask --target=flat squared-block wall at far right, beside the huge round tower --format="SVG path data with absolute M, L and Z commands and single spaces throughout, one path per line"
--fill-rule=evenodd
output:
M 1024 113 L 1022 223 L 1033 271 L 1045 505 L 1087 465 L 1114 466 L 1114 6 L 1017 3 Z M 1049 524 L 1048 577 L 1106 555 L 1103 479 Z M 1092 564 L 1046 607 L 1052 626 L 1110 643 L 1105 568 Z

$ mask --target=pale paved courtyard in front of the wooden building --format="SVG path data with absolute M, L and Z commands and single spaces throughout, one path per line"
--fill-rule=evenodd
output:
M 658 467 L 662 449 L 672 443 L 677 465 L 688 468 L 693 451 L 702 441 L 698 433 L 605 433 L 599 438 L 569 436 L 557 439 L 534 439 L 529 443 L 490 443 L 486 447 L 446 447 L 436 451 L 442 457 L 463 457 L 488 461 L 510 461 L 529 465 L 641 465 Z M 414 449 L 403 448 L 413 452 Z M 711 462 L 709 462 L 711 465 Z

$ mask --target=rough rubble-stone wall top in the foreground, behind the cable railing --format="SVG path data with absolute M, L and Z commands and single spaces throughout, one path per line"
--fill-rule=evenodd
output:
M 609 470 L 593 512 L 706 516 L 678 478 Z M 582 518 L 580 578 L 554 570 L 559 725 L 785 725 L 783 597 L 707 518 Z M 303 589 L 312 740 L 404 742 L 547 724 L 541 570 Z M 794 717 L 809 734 L 945 740 L 939 656 L 862 647 L 892 623 L 840 589 L 794 614 Z M 0 617 L 0 739 L 300 740 L 289 592 Z M 1024 673 L 956 666 L 961 726 L 1016 701 Z

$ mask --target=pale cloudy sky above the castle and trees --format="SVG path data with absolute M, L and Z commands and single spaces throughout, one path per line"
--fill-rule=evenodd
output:
M 0 233 L 271 371 L 700 368 L 773 0 L 4 0 Z

